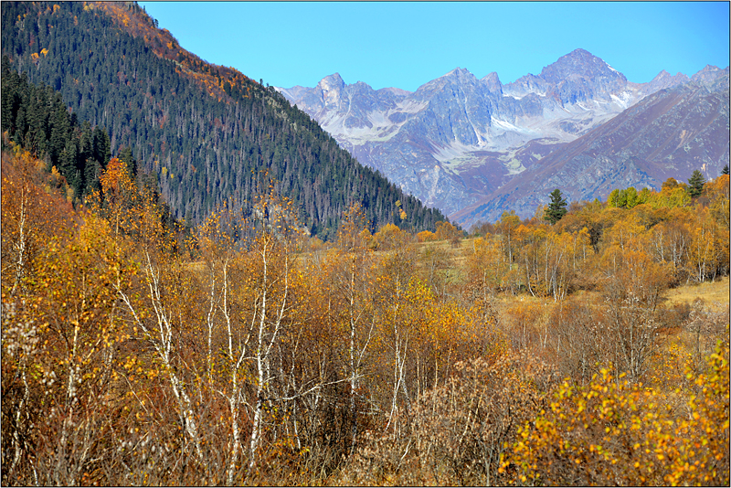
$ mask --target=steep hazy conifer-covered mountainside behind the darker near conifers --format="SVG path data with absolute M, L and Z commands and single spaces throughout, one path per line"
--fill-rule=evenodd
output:
M 174 217 L 191 225 L 224 203 L 248 215 L 270 182 L 325 239 L 355 201 L 373 228 L 434 230 L 445 220 L 358 164 L 275 90 L 185 51 L 134 3 L 7 2 L 2 27 L 9 69 L 106 130 L 111 154 L 130 148 L 128 163 L 155 175 Z M 77 197 L 87 179 L 69 179 Z

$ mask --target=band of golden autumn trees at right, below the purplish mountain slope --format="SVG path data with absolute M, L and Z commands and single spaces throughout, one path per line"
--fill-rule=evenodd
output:
M 492 291 L 526 291 L 555 300 L 579 289 L 596 289 L 602 276 L 620 271 L 634 253 L 636 265 L 673 285 L 728 274 L 728 175 L 705 183 L 693 201 L 669 178 L 660 192 L 645 188 L 643 203 L 617 206 L 599 201 L 539 208 L 522 221 L 503 213 L 496 224 L 472 231 Z M 556 192 L 555 192 L 556 193 Z M 612 195 L 636 196 L 633 188 Z M 558 201 L 563 200 L 558 191 Z M 553 205 L 553 204 L 552 204 Z M 560 212 L 563 217 L 556 219 Z M 611 268 L 611 271 L 608 271 Z M 653 279 L 653 280 L 655 280 Z

